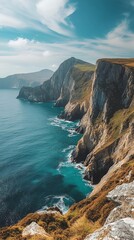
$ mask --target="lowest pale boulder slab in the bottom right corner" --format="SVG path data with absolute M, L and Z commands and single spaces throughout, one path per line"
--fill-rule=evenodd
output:
M 85 240 L 132 240 L 134 239 L 134 219 L 123 218 L 104 225 L 85 238 Z

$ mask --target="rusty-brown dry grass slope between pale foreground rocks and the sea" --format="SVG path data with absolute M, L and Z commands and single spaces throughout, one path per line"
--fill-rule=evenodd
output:
M 134 180 L 134 159 L 125 163 L 121 166 L 120 169 L 116 170 L 114 177 L 111 176 L 110 180 L 103 186 L 101 191 L 91 198 L 82 200 L 81 202 L 75 204 L 70 208 L 67 217 L 72 212 L 79 212 L 79 215 L 82 216 L 86 214 L 86 217 L 89 221 L 93 223 L 98 223 L 98 225 L 103 225 L 110 211 L 114 208 L 115 204 L 109 201 L 106 196 L 109 191 L 113 190 L 117 185 L 127 182 L 125 176 L 132 171 L 130 182 Z M 73 218 L 71 219 L 73 223 Z

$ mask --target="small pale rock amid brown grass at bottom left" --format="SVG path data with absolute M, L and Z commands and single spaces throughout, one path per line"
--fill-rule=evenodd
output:
M 23 238 L 28 236 L 48 237 L 49 235 L 43 227 L 40 227 L 36 222 L 32 222 L 30 225 L 26 226 L 22 232 Z

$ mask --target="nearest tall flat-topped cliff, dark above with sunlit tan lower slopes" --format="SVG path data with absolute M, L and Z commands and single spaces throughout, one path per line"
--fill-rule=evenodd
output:
M 98 61 L 87 114 L 86 131 L 73 160 L 87 166 L 85 178 L 96 184 L 113 164 L 134 154 L 132 66 L 119 60 Z

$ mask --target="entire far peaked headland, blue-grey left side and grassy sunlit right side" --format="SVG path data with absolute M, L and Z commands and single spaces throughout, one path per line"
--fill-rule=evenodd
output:
M 69 120 L 81 118 L 88 109 L 89 95 L 95 66 L 76 58 L 63 62 L 53 76 L 36 88 L 23 87 L 17 98 L 32 102 L 55 101 L 65 107 L 61 117 Z

